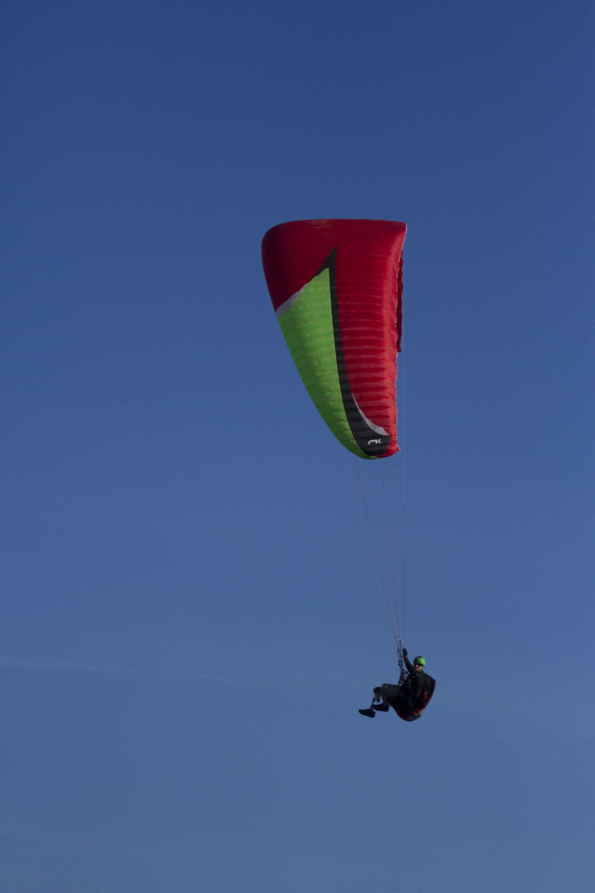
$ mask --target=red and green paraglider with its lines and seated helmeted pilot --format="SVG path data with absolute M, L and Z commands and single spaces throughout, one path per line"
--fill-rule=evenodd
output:
M 399 221 L 310 220 L 280 223 L 262 239 L 269 294 L 293 362 L 328 429 L 358 459 L 386 459 L 399 451 L 396 363 L 406 232 Z M 374 540 L 359 470 L 357 476 Z M 359 713 L 375 716 L 390 705 L 411 721 L 423 714 L 435 680 L 421 670 L 423 658 L 409 663 L 402 647 L 384 472 L 381 480 L 394 609 L 373 545 L 401 676 L 398 686 L 378 689 L 378 697 L 375 689 L 373 705 Z M 403 570 L 403 598 L 404 588 Z

